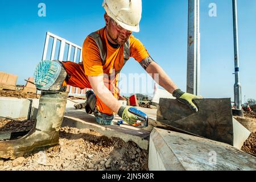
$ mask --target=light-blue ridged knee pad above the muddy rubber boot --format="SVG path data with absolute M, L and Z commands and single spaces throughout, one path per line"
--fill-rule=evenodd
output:
M 41 61 L 35 70 L 34 78 L 36 88 L 46 91 L 63 90 L 62 84 L 67 77 L 67 72 L 60 61 Z M 65 91 L 65 90 L 63 90 Z

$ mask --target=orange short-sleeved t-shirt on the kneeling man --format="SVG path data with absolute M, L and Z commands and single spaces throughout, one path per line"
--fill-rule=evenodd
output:
M 121 71 L 123 67 L 124 46 L 113 48 L 106 38 L 106 27 L 96 31 L 100 34 L 102 43 L 106 48 L 106 63 L 102 65 L 100 49 L 93 38 L 88 36 L 82 46 L 82 63 L 86 76 L 100 76 L 103 73 L 110 75 L 113 72 Z M 133 35 L 130 36 L 130 57 L 134 57 L 139 63 L 148 57 L 148 52 L 143 44 Z

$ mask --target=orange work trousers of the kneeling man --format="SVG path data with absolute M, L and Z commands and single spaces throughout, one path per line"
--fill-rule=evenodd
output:
M 68 76 L 69 76 L 67 80 L 68 85 L 75 86 L 80 89 L 92 88 L 92 86 L 90 86 L 88 76 L 85 75 L 84 65 L 82 63 L 73 63 L 71 61 L 63 61 L 62 63 L 64 65 L 65 71 L 68 73 Z M 119 89 L 117 87 L 118 78 L 119 78 L 118 74 L 115 75 L 114 78 L 104 76 L 105 86 L 110 90 L 110 92 L 112 92 L 113 96 L 117 100 L 119 97 Z M 97 94 L 96 94 L 96 98 L 97 98 L 97 102 L 96 102 L 97 110 L 100 113 L 112 115 L 113 110 L 110 109 L 108 106 L 106 106 L 104 102 L 102 102 L 100 98 L 98 98 Z

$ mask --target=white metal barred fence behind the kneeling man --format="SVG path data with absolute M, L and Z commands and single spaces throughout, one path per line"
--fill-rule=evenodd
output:
M 47 32 L 42 60 L 73 61 L 75 63 L 81 63 L 82 47 L 54 35 L 51 32 Z M 85 96 L 86 91 L 90 89 L 81 90 L 80 88 L 68 86 L 67 90 L 69 91 L 69 96 Z

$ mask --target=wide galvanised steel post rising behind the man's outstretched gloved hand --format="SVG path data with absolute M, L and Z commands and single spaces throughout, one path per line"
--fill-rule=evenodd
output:
M 199 0 L 188 0 L 187 92 L 200 94 Z

